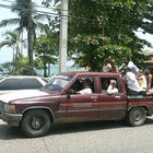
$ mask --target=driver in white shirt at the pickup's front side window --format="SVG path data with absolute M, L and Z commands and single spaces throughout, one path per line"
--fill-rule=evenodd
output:
M 76 92 L 78 94 L 92 94 L 93 93 L 92 89 L 90 86 L 90 82 L 87 80 L 83 81 L 83 86 L 84 86 L 84 89 Z

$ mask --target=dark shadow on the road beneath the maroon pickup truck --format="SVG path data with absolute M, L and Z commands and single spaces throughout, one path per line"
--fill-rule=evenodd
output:
M 153 118 L 148 118 L 144 126 L 153 125 Z M 54 123 L 48 136 L 74 133 L 95 130 L 108 130 L 114 128 L 134 128 L 129 127 L 125 121 L 89 121 L 89 122 L 69 122 L 69 123 Z M 23 136 L 19 128 L 10 127 L 5 123 L 0 123 L 0 139 L 27 139 Z

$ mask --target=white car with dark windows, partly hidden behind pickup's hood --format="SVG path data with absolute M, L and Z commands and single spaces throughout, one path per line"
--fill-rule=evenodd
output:
M 8 75 L 0 79 L 0 95 L 16 90 L 40 89 L 46 81 L 40 76 L 33 75 Z

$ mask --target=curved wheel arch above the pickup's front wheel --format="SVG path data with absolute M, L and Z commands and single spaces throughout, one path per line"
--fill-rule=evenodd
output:
M 51 122 L 55 121 L 54 111 L 52 111 L 50 108 L 44 107 L 44 106 L 28 107 L 28 108 L 24 109 L 24 110 L 22 111 L 22 114 L 23 114 L 23 116 L 24 116 L 24 114 L 26 114 L 26 113 L 28 113 L 28 111 L 31 111 L 31 110 L 34 110 L 34 109 L 45 110 L 45 111 L 49 115 Z

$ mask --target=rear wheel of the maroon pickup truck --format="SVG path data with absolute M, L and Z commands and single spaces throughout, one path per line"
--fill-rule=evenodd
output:
M 127 121 L 133 127 L 141 126 L 146 119 L 146 113 L 143 107 L 133 107 L 127 116 Z

